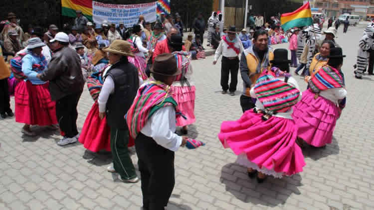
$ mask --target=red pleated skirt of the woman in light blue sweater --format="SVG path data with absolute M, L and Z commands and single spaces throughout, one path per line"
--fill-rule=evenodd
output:
M 52 101 L 48 86 L 49 83 L 19 82 L 14 93 L 16 122 L 39 126 L 57 124 L 56 102 Z

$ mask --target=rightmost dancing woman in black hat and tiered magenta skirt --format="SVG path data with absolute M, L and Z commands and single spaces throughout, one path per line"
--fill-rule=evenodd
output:
M 294 106 L 292 118 L 298 137 L 315 147 L 332 142 L 336 121 L 346 103 L 343 57 L 342 48 L 331 48 L 327 65 L 306 78 L 309 88 Z

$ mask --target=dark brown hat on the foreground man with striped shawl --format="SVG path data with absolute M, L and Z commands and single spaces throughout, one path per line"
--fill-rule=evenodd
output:
M 174 54 L 163 53 L 155 58 L 151 72 L 164 76 L 176 76 L 180 75 L 182 70 L 178 68 L 177 60 Z

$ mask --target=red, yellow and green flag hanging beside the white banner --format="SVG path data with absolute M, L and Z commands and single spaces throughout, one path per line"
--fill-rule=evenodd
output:
M 61 0 L 62 15 L 76 17 L 75 10 L 92 20 L 92 0 Z

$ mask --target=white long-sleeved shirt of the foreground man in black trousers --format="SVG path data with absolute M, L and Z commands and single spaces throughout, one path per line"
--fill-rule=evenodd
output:
M 173 106 L 162 107 L 157 110 L 140 132 L 153 138 L 157 144 L 177 151 L 182 144 L 182 136 L 176 131 L 176 111 Z

